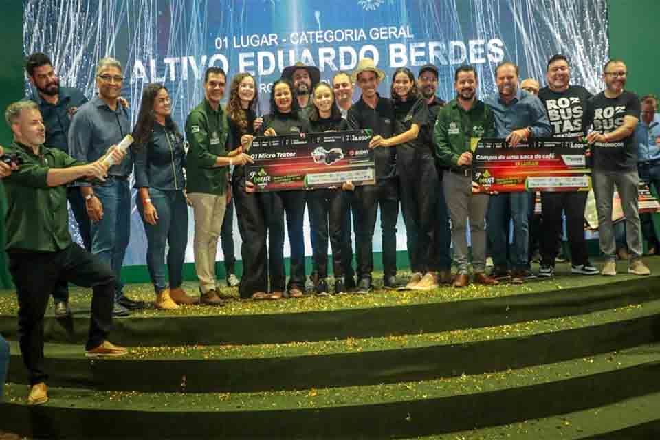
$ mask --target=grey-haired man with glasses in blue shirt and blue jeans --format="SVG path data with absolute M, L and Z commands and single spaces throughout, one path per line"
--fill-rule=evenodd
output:
M 131 133 L 128 113 L 118 102 L 123 80 L 119 61 L 102 58 L 98 62 L 98 95 L 78 109 L 69 128 L 69 148 L 74 158 L 94 162 L 109 146 L 119 144 Z M 124 296 L 124 284 L 120 279 L 131 231 L 131 173 L 133 155 L 129 150 L 123 162 L 109 168 L 108 178 L 103 183 L 78 183 L 91 219 L 91 253 L 98 255 L 115 272 L 114 316 L 127 316 L 129 309 L 143 306 Z

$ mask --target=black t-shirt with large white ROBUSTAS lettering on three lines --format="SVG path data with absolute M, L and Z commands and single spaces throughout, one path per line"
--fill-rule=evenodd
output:
M 566 91 L 543 87 L 538 98 L 548 112 L 553 136 L 582 137 L 586 135 L 586 105 L 593 95 L 581 85 L 569 85 Z

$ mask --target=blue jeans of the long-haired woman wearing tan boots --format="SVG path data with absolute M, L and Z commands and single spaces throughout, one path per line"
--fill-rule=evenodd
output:
M 188 205 L 182 190 L 163 191 L 149 188 L 149 198 L 156 208 L 158 220 L 155 225 L 144 221 L 144 205 L 137 203 L 146 233 L 146 267 L 155 292 L 167 289 L 166 274 L 169 275 L 170 289 L 181 287 L 183 283 L 184 259 L 188 244 Z M 165 267 L 165 248 L 167 268 Z

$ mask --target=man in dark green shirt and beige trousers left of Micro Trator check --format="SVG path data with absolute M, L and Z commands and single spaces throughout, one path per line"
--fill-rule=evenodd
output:
M 227 115 L 220 106 L 226 83 L 223 69 L 206 69 L 205 98 L 192 109 L 186 120 L 186 137 L 190 144 L 186 156 L 186 190 L 195 215 L 192 248 L 200 301 L 209 305 L 222 304 L 216 292 L 215 255 L 227 206 L 226 173 L 229 166 L 252 162 L 252 157 L 242 153 L 241 148 L 227 151 L 229 126 Z

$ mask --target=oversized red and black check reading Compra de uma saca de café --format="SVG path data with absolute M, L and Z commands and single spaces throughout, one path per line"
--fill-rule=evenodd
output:
M 586 146 L 577 139 L 531 139 L 512 148 L 502 139 L 472 138 L 474 192 L 588 191 Z

